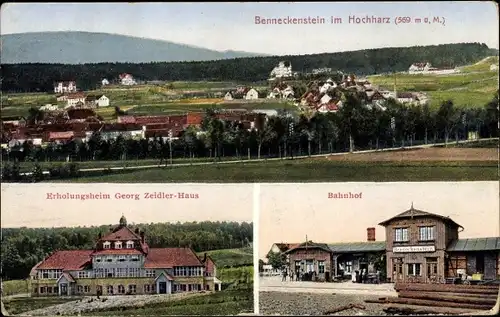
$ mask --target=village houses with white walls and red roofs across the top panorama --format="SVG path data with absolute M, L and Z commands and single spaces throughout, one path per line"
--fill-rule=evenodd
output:
M 429 63 L 416 63 L 411 65 L 409 73 L 434 71 L 429 70 L 429 67 Z M 385 102 L 391 98 L 399 103 L 412 105 L 428 102 L 425 93 L 398 92 L 396 84 L 394 90 L 389 91 L 372 85 L 366 79 L 344 75 L 341 72 L 340 80 L 334 81 L 328 77 L 328 73 L 332 73 L 331 68 L 314 69 L 312 75 L 326 79 L 310 80 L 306 86 L 305 81 L 296 79 L 298 74 L 292 71 L 290 63 L 280 62 L 271 71 L 269 86 L 264 89 L 240 85 L 225 93 L 214 93 L 213 95 L 218 97 L 217 104 L 223 107 L 217 116 L 226 121 L 241 123 L 251 130 L 259 129 L 259 122 L 263 117 L 277 115 L 280 109 L 247 110 L 245 104 L 279 101 L 291 105 L 296 111 L 335 113 L 342 107 L 342 94 L 339 89 L 363 94 L 367 107 L 376 107 L 382 111 L 385 110 Z M 297 83 L 304 86 L 302 90 L 305 91 L 300 91 L 301 87 L 297 88 Z M 131 74 L 120 74 L 112 80 L 112 84 L 106 78 L 100 83 L 102 90 L 110 85 L 124 90 L 133 89 L 140 84 L 141 81 Z M 40 105 L 37 111 L 34 111 L 35 120 L 31 123 L 27 122 L 26 117 L 2 117 L 3 149 L 12 149 L 26 141 L 35 146 L 70 140 L 86 142 L 96 131 L 100 132 L 105 140 L 115 139 L 119 135 L 135 139 L 160 137 L 172 140 L 178 138 L 189 126 L 199 128 L 204 117 L 204 113 L 199 111 L 175 115 L 127 115 L 125 111 L 120 110 L 121 105 L 114 103 L 105 93 L 80 91 L 78 80 L 56 82 L 53 93 L 57 96 L 57 104 Z M 196 98 L 198 97 L 195 96 L 194 99 Z M 231 106 L 225 106 L 226 103 L 242 106 L 232 109 Z M 105 120 L 98 115 L 98 109 L 106 107 L 115 107 L 115 119 Z

